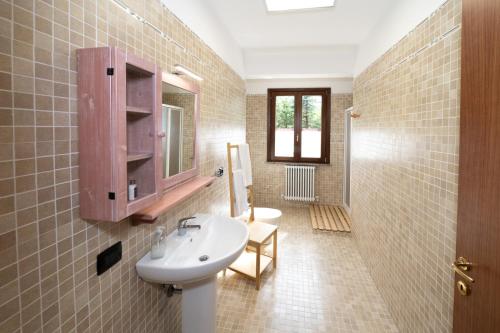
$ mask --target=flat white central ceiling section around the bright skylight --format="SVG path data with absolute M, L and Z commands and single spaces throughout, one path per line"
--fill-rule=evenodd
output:
M 358 45 L 396 0 L 337 0 L 335 7 L 269 13 L 264 0 L 206 0 L 243 49 Z

